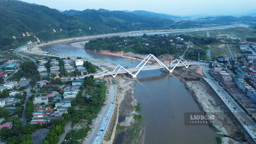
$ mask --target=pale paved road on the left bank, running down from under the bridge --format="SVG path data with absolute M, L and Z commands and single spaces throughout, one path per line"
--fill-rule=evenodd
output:
M 115 101 L 116 101 L 116 91 L 117 91 L 117 85 L 110 85 L 110 88 L 108 90 L 109 92 L 108 104 L 106 105 L 104 111 L 101 113 L 101 117 L 99 118 L 95 129 L 93 130 L 91 137 L 88 139 L 86 143 L 88 144 L 101 143 L 101 140 L 104 136 L 104 133 L 106 132 L 108 123 L 114 111 Z M 103 131 L 100 131 L 100 130 L 103 130 Z

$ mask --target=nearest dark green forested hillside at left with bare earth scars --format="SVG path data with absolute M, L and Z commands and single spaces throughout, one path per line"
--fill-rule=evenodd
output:
M 108 26 L 65 15 L 43 5 L 12 0 L 0 0 L 0 31 L 1 50 L 30 41 L 115 32 Z

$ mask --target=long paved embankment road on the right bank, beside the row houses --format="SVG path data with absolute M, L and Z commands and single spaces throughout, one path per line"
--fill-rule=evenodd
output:
M 252 137 L 252 139 L 254 140 L 254 138 L 256 138 L 256 136 L 253 133 L 253 129 L 256 130 L 256 125 L 253 123 L 252 118 L 250 116 L 248 116 L 242 108 L 240 108 L 238 106 L 238 104 L 234 101 L 234 99 L 227 93 L 225 92 L 222 87 L 220 87 L 220 85 L 212 80 L 212 77 L 208 74 L 207 70 L 209 70 L 210 68 L 206 68 L 204 67 L 203 72 L 204 74 L 207 76 L 207 78 L 203 77 L 206 82 L 213 87 L 213 90 L 219 95 L 220 99 L 225 103 L 225 105 L 227 106 L 227 108 L 234 114 L 234 116 L 236 117 L 236 119 L 243 125 L 244 129 L 249 133 L 249 135 Z M 219 91 L 218 91 L 219 90 Z M 227 99 L 226 99 L 227 98 Z M 229 101 L 229 102 L 228 102 Z M 234 110 L 233 107 L 236 107 L 236 110 Z M 249 126 L 244 124 L 244 121 L 246 122 L 246 124 L 248 124 Z M 252 130 L 250 130 L 252 129 Z M 256 140 L 254 140 L 256 143 Z

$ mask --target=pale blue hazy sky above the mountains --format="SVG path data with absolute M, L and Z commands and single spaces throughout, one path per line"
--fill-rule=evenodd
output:
M 256 13 L 256 0 L 21 0 L 57 10 L 145 10 L 173 15 Z

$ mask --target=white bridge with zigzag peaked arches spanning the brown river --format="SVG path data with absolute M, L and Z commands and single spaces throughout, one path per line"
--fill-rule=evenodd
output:
M 153 58 L 156 60 L 156 62 L 159 64 L 159 65 L 149 65 L 149 66 L 145 66 L 146 63 L 148 62 L 148 60 L 150 58 Z M 144 62 L 144 64 L 142 65 L 142 63 Z M 142 66 L 141 66 L 142 65 Z M 188 68 L 188 66 L 190 65 L 194 65 L 193 63 L 191 62 L 183 62 L 182 60 L 178 60 L 178 59 L 175 59 L 174 61 L 172 61 L 170 63 L 170 65 L 164 65 L 160 60 L 158 60 L 153 54 L 149 54 L 144 60 L 142 60 L 140 62 L 140 64 L 138 66 L 136 66 L 135 68 L 124 68 L 122 67 L 121 65 L 118 65 L 113 71 L 108 71 L 108 70 L 105 70 L 101 73 L 98 73 L 98 74 L 94 74 L 93 76 L 95 78 L 97 77 L 102 77 L 102 76 L 113 76 L 114 78 L 116 77 L 117 74 L 124 74 L 124 73 L 129 73 L 132 78 L 136 78 L 137 75 L 139 74 L 139 72 L 141 70 L 153 70 L 153 69 L 162 69 L 164 68 L 167 72 L 169 73 L 172 73 L 172 71 L 174 70 L 174 68 L 176 67 L 182 67 L 184 66 L 185 68 Z M 168 68 L 169 67 L 169 68 Z M 134 73 L 134 74 L 133 74 Z

